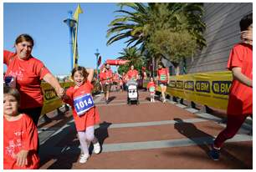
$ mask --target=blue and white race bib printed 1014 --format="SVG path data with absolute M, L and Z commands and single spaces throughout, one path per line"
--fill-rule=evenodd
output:
M 74 109 L 79 116 L 93 107 L 95 107 L 95 102 L 90 94 L 83 94 L 74 99 Z

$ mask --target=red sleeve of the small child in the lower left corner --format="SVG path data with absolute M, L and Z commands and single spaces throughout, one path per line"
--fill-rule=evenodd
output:
M 26 114 L 24 114 L 26 115 Z M 38 149 L 38 129 L 33 124 L 33 120 L 25 116 L 26 133 L 23 139 L 23 149 L 25 150 L 37 150 Z

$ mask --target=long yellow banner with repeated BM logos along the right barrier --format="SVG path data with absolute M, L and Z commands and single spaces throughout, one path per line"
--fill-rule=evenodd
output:
M 228 91 L 232 80 L 230 71 L 170 76 L 166 94 L 212 108 L 227 109 Z M 146 83 L 144 83 L 145 86 Z M 157 91 L 161 92 L 159 86 Z

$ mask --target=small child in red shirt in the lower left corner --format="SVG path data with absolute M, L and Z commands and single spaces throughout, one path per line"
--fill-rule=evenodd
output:
M 27 114 L 19 114 L 17 89 L 3 89 L 3 169 L 38 169 L 38 130 Z

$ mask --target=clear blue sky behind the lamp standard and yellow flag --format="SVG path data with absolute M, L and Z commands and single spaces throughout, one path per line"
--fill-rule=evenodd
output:
M 34 39 L 33 56 L 44 62 L 56 74 L 69 74 L 69 29 L 64 19 L 78 3 L 3 3 L 3 48 L 15 51 L 15 39 L 28 33 Z M 116 3 L 79 3 L 84 13 L 79 15 L 79 65 L 96 66 L 96 48 L 102 57 L 115 59 L 126 44 L 124 40 L 106 46 L 108 24 L 119 9 Z M 114 70 L 115 67 L 112 67 Z M 6 70 L 4 65 L 3 70 Z

